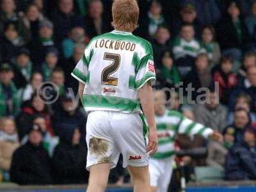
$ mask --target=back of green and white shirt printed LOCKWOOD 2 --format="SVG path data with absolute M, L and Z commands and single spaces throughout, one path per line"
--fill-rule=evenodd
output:
M 138 90 L 148 80 L 156 79 L 152 46 L 122 31 L 96 36 L 72 75 L 86 84 L 86 111 L 140 111 Z

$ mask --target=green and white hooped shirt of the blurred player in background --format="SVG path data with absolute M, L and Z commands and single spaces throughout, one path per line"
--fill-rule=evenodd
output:
M 163 116 L 156 116 L 158 150 L 153 158 L 164 159 L 172 157 L 174 152 L 174 142 L 176 134 L 200 134 L 208 138 L 212 134 L 212 129 L 189 120 L 177 111 L 168 111 Z

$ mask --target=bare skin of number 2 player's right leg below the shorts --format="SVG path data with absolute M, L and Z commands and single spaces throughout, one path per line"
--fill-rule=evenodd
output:
M 148 166 L 128 166 L 134 192 L 150 191 Z

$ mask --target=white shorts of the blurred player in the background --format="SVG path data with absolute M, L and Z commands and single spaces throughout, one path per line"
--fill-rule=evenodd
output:
M 173 171 L 173 157 L 165 159 L 149 159 L 150 186 L 157 192 L 167 192 Z

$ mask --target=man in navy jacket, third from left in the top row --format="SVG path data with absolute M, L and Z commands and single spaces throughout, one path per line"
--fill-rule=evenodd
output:
M 51 20 L 54 24 L 54 35 L 58 43 L 67 37 L 74 23 L 83 25 L 83 19 L 73 12 L 73 0 L 59 0 L 58 9 L 54 10 Z

